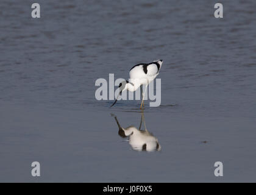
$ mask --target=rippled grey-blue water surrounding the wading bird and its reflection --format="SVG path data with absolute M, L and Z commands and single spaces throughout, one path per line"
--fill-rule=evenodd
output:
M 256 182 L 256 1 L 37 2 L 0 2 L 0 182 Z M 138 128 L 140 101 L 95 81 L 157 59 L 161 151 L 135 151 L 113 116 Z

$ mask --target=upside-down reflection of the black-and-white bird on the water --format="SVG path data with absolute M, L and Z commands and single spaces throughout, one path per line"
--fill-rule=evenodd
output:
M 118 119 L 115 116 L 116 123 L 118 124 L 118 134 L 120 137 L 126 138 L 129 137 L 129 144 L 132 146 L 132 149 L 135 151 L 160 151 L 161 146 L 158 143 L 156 137 L 152 133 L 148 132 L 146 129 L 144 113 L 141 112 L 141 121 L 140 127 L 137 129 L 134 126 L 129 126 L 127 128 L 121 127 L 118 122 Z M 143 124 L 144 130 L 141 130 L 141 125 Z

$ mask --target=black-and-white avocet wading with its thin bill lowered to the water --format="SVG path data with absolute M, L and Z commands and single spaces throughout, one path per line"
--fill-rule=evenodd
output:
M 156 60 L 151 63 L 139 63 L 138 65 L 133 66 L 129 72 L 130 74 L 129 81 L 124 80 L 119 84 L 118 96 L 124 90 L 136 91 L 140 87 L 141 94 L 142 94 L 142 101 L 141 101 L 140 108 L 142 108 L 142 105 L 144 107 L 144 97 L 146 94 L 147 87 L 149 83 L 152 82 L 152 80 L 154 80 L 155 77 L 157 77 L 157 75 L 159 74 L 162 63 L 163 63 L 163 60 Z M 142 85 L 146 85 L 144 94 L 142 90 Z M 118 97 L 116 98 L 112 106 L 116 104 L 117 100 L 118 100 Z

